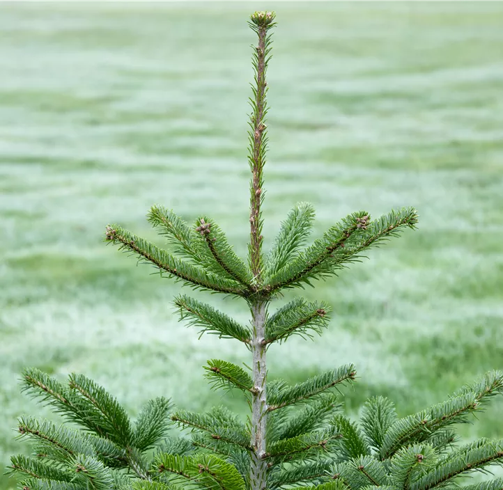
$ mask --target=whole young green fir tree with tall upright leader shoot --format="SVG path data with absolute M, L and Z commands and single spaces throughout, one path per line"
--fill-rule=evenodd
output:
M 192 437 L 168 437 L 171 404 L 151 400 L 133 423 L 102 387 L 73 374 L 67 384 L 38 370 L 26 370 L 25 390 L 49 403 L 77 428 L 20 418 L 22 438 L 34 443 L 33 457 L 12 458 L 10 469 L 25 490 L 430 490 L 453 488 L 457 477 L 485 471 L 503 461 L 503 441 L 479 441 L 455 448 L 455 423 L 503 391 L 503 374 L 491 372 L 465 386 L 446 402 L 398 418 L 392 402 L 376 397 L 364 405 L 359 423 L 344 416 L 332 388 L 355 379 L 344 365 L 289 386 L 267 382 L 266 354 L 272 342 L 291 335 L 310 337 L 327 326 L 324 303 L 293 299 L 270 313 L 282 291 L 333 276 L 367 248 L 414 228 L 411 208 L 375 221 L 366 212 L 346 216 L 325 235 L 304 247 L 314 210 L 302 203 L 281 225 L 268 255 L 262 253 L 263 168 L 267 146 L 265 74 L 270 59 L 273 13 L 254 13 L 249 23 L 258 35 L 253 62 L 249 131 L 250 228 L 248 264 L 227 242 L 224 232 L 204 216 L 188 226 L 172 211 L 154 206 L 148 220 L 165 235 L 164 251 L 120 226 L 108 226 L 106 239 L 153 264 L 161 276 L 245 301 L 252 322 L 244 326 L 206 303 L 176 299 L 182 317 L 202 331 L 234 338 L 249 350 L 251 374 L 213 359 L 206 377 L 217 388 L 237 388 L 249 400 L 245 424 L 226 409 L 208 413 L 178 410 L 171 420 L 192 429 Z M 497 490 L 503 480 L 472 484 L 470 490 Z

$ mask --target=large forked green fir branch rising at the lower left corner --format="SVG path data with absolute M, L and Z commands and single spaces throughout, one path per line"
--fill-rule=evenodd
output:
M 165 434 L 168 425 L 167 400 L 160 398 L 148 402 L 133 430 L 123 407 L 104 388 L 86 377 L 72 374 L 67 386 L 39 370 L 29 369 L 25 370 L 22 381 L 24 390 L 54 406 L 66 420 L 91 431 L 71 432 L 65 427 L 43 424 L 38 427 L 38 422 L 26 419 L 30 424 L 20 427 L 20 433 L 38 434 L 38 445 L 44 446 L 40 452 L 53 455 L 58 461 L 61 458 L 65 460 L 65 455 L 77 453 L 97 456 L 111 468 L 130 467 L 140 477 L 146 476 L 141 452 L 155 445 L 155 441 Z M 54 440 L 40 439 L 40 434 L 44 434 L 46 429 L 49 431 L 47 437 L 52 435 Z M 65 437 L 68 431 L 70 433 Z M 63 437 L 62 442 L 60 437 Z M 84 448 L 91 449 L 75 448 L 65 441 L 84 441 Z

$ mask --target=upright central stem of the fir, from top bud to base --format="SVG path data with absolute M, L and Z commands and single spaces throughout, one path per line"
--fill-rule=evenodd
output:
M 258 291 L 262 283 L 262 218 L 261 204 L 263 200 L 263 166 L 265 164 L 265 150 L 267 138 L 265 136 L 265 114 L 267 104 L 267 82 L 265 72 L 270 52 L 268 30 L 274 26 L 274 13 L 256 12 L 250 17 L 249 25 L 258 35 L 258 45 L 254 49 L 253 61 L 255 70 L 255 84 L 252 85 L 253 98 L 252 115 L 249 126 L 249 155 L 248 161 L 252 170 L 250 185 L 250 244 L 249 264 L 254 275 L 254 290 Z M 252 465 L 250 468 L 251 490 L 265 490 L 267 486 L 267 462 L 265 460 L 265 427 L 267 422 L 267 399 L 265 384 L 267 365 L 265 363 L 265 310 L 267 301 L 257 297 L 250 301 L 253 317 L 253 400 L 252 400 Z

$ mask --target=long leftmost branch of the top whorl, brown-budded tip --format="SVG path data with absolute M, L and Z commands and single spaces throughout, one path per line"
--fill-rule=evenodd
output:
M 201 267 L 184 262 L 120 226 L 107 226 L 106 239 L 113 244 L 118 244 L 122 251 L 136 255 L 139 262 L 152 264 L 161 276 L 167 274 L 168 277 L 181 280 L 193 289 L 210 290 L 236 296 L 247 295 L 247 290 L 237 281 L 222 278 Z

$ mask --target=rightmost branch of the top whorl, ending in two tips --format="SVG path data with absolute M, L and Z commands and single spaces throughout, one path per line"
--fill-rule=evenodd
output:
M 264 290 L 273 293 L 333 276 L 345 264 L 355 261 L 366 248 L 397 236 L 404 228 L 415 228 L 416 223 L 417 212 L 412 207 L 392 211 L 376 221 L 370 221 L 369 214 L 364 211 L 350 214 L 271 276 Z

